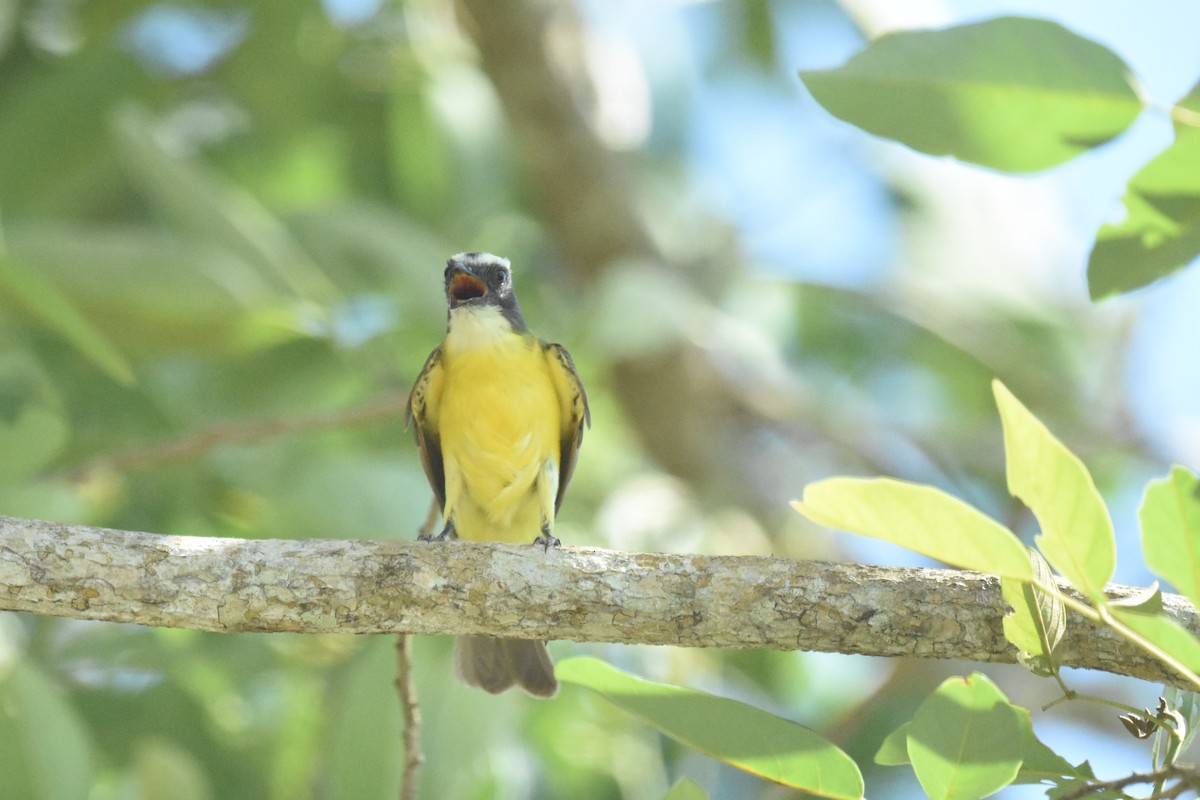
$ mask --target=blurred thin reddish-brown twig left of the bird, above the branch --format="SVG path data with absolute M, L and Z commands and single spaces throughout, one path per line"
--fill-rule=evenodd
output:
M 182 437 L 152 441 L 106 456 L 96 456 L 74 467 L 68 467 L 64 474 L 67 477 L 79 480 L 100 470 L 127 473 L 179 463 L 204 456 L 221 445 L 253 444 L 294 433 L 378 422 L 403 414 L 407 404 L 407 392 L 394 392 L 361 405 L 334 411 L 318 411 L 295 417 L 218 422 Z

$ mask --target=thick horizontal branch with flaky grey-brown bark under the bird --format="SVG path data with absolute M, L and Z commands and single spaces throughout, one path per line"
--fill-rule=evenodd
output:
M 1133 594 L 1112 587 L 1112 596 Z M 1195 609 L 1166 612 L 1198 631 Z M 521 545 L 163 536 L 0 517 L 0 610 L 222 632 L 486 633 L 1013 662 L 974 572 Z M 1178 685 L 1069 620 L 1061 663 Z

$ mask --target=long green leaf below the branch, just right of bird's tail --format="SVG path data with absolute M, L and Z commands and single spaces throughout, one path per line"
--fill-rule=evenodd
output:
M 863 776 L 854 762 L 790 720 L 644 680 L 596 658 L 570 658 L 556 672 L 564 684 L 589 688 L 672 739 L 740 770 L 821 798 L 863 796 Z

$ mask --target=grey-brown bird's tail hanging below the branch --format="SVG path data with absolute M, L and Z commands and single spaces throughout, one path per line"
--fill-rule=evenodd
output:
M 545 642 L 460 636 L 455 639 L 454 663 L 458 680 L 492 694 L 511 686 L 534 697 L 552 697 L 558 691 L 554 662 Z

